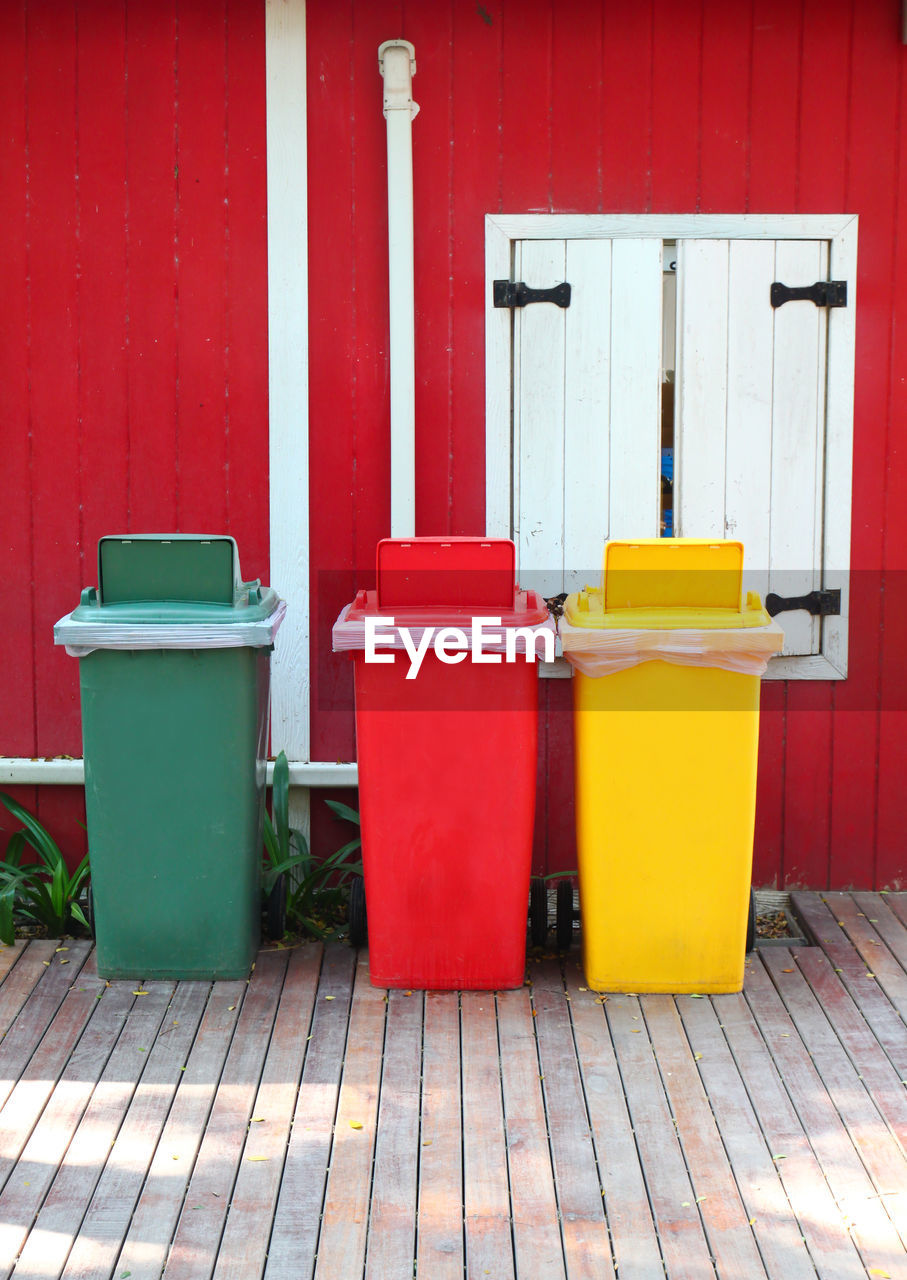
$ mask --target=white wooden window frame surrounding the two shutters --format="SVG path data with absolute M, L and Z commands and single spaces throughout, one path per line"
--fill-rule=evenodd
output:
M 509 279 L 513 244 L 533 239 L 823 239 L 829 271 L 847 280 L 847 306 L 830 312 L 825 415 L 825 511 L 823 564 L 840 586 L 840 617 L 825 618 L 823 653 L 774 658 L 770 680 L 844 680 L 849 618 L 853 371 L 857 293 L 857 228 L 853 214 L 489 214 L 485 218 L 485 525 L 489 536 L 510 536 L 512 312 L 493 302 L 491 282 Z

